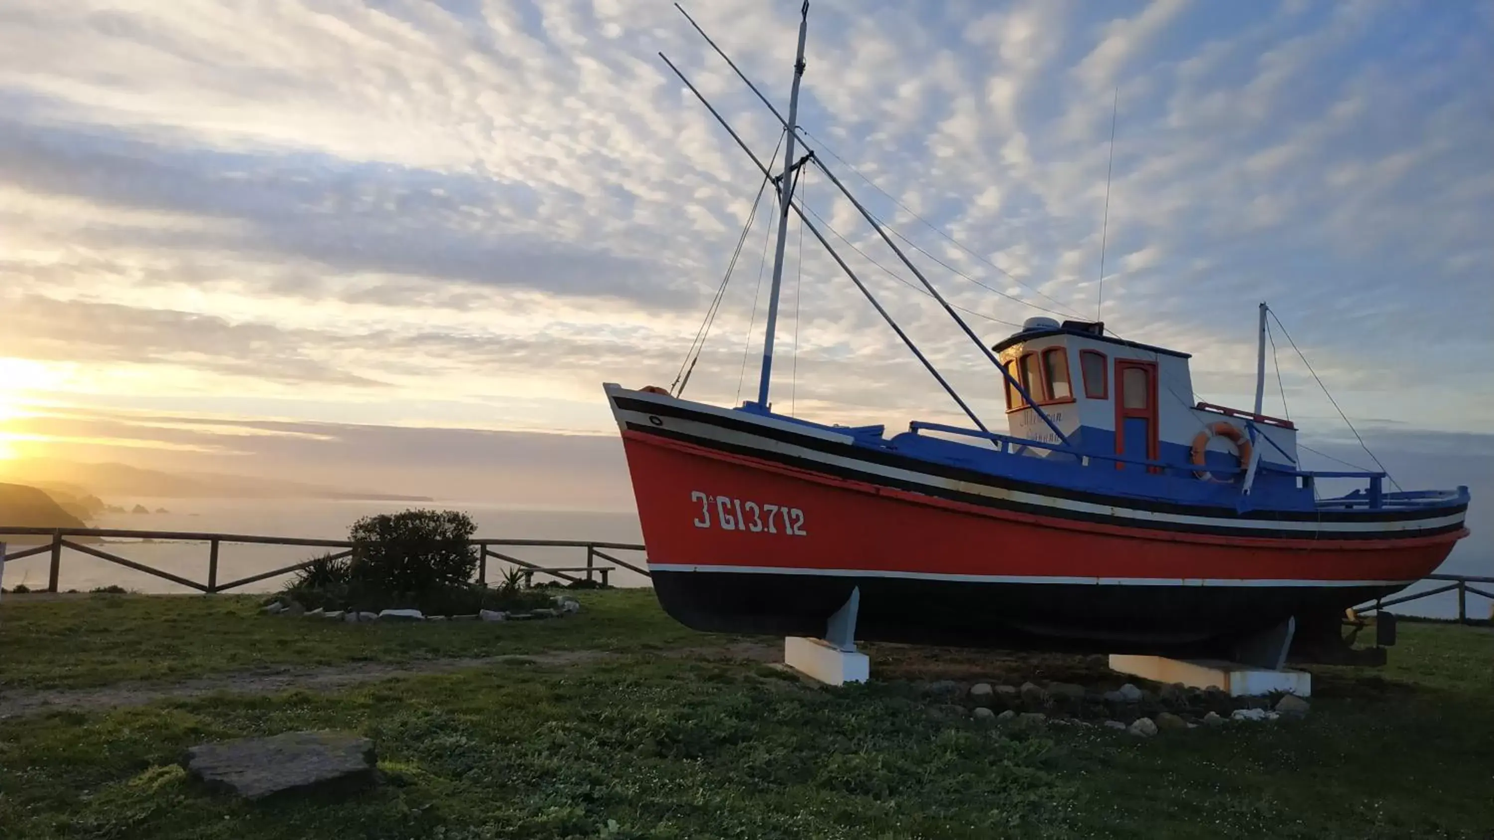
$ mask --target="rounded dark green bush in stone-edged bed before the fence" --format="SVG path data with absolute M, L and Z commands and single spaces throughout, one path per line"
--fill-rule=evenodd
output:
M 468 540 L 477 525 L 457 510 L 405 510 L 353 524 L 351 577 L 384 592 L 430 592 L 465 585 L 477 571 Z

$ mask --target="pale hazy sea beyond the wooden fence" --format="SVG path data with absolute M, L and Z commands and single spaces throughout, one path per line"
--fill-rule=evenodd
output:
M 148 531 L 191 531 L 218 534 L 249 534 L 308 539 L 347 539 L 348 527 L 362 516 L 394 513 L 411 507 L 399 501 L 342 501 L 342 500 L 203 500 L 203 498 L 131 498 L 114 500 L 125 510 L 140 504 L 151 513 L 105 513 L 96 522 L 97 528 L 128 528 Z M 632 510 L 563 510 L 532 509 L 489 501 L 436 501 L 421 504 L 463 510 L 477 524 L 478 537 L 529 539 L 529 540 L 596 540 L 613 543 L 642 543 L 638 515 Z M 1488 534 L 1475 533 L 1463 540 L 1452 557 L 1437 570 L 1445 574 L 1494 576 L 1490 560 Z M 15 548 L 22 546 L 12 546 Z M 142 542 L 106 539 L 96 548 L 124 557 L 134 562 L 169 571 L 190 580 L 208 579 L 208 543 L 205 542 Z M 218 552 L 218 582 L 226 583 L 261 571 L 281 568 L 318 557 L 330 549 L 303 546 L 264 546 L 249 543 L 223 543 Z M 581 548 L 505 548 L 499 549 L 518 560 L 547 567 L 586 565 L 586 549 Z M 642 565 L 642 552 L 614 551 L 620 560 Z M 599 564 L 607 561 L 598 560 Z M 28 588 L 46 586 L 49 557 L 37 555 L 3 565 L 3 586 L 10 589 L 18 583 Z M 489 579 L 498 580 L 502 565 L 490 562 Z M 611 565 L 611 564 L 608 564 Z M 273 592 L 285 585 L 288 574 L 269 577 L 236 588 L 236 592 Z M 544 579 L 541 576 L 539 579 Z M 611 573 L 614 586 L 647 586 L 642 574 L 617 568 Z M 1421 592 L 1445 583 L 1424 580 L 1406 592 Z M 82 552 L 64 551 L 60 568 L 60 591 L 87 592 L 100 586 L 123 586 L 134 592 L 191 592 L 188 586 L 117 565 Z M 1494 591 L 1494 585 L 1479 586 Z M 1457 595 L 1443 592 L 1397 606 L 1394 612 L 1433 618 L 1457 616 Z M 1494 604 L 1488 598 L 1469 594 L 1467 612 L 1475 618 L 1490 618 Z

